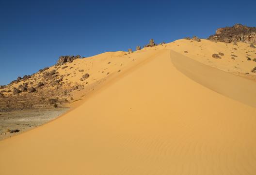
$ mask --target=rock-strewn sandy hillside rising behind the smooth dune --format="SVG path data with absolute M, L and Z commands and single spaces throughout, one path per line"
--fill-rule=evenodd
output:
M 128 52 L 106 52 L 88 58 L 61 56 L 49 68 L 0 86 L 0 110 L 68 106 L 95 91 L 106 79 L 142 61 L 141 58 L 151 58 L 163 49 L 256 81 L 256 48 L 253 44 L 211 42 L 195 36 L 167 44 L 155 44 L 151 39 L 143 49 L 137 46 L 134 52 L 128 49 Z

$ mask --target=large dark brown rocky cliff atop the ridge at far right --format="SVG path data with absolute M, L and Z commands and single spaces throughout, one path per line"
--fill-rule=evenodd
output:
M 256 44 L 256 28 L 236 24 L 233 27 L 217 29 L 216 34 L 210 35 L 208 39 L 214 42 Z

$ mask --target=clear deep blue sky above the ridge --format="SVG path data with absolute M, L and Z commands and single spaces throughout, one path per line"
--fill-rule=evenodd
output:
M 0 0 L 0 85 L 56 63 L 217 28 L 256 26 L 256 0 Z

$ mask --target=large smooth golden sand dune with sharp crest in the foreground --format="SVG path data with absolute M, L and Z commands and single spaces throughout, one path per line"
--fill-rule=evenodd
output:
M 225 87 L 214 71 L 198 77 L 205 65 L 193 62 L 187 69 L 180 60 L 188 58 L 168 47 L 130 54 L 139 61 L 80 106 L 0 141 L 0 174 L 255 175 L 256 108 L 220 94 Z M 227 81 L 255 86 L 243 80 Z

